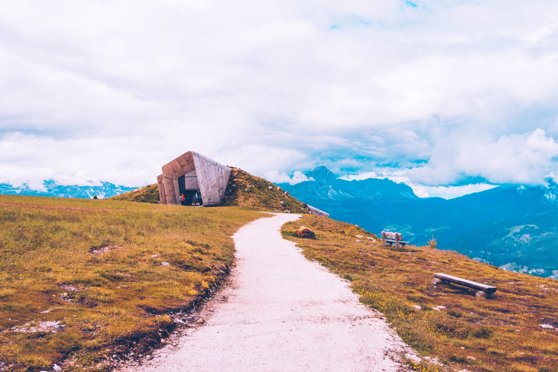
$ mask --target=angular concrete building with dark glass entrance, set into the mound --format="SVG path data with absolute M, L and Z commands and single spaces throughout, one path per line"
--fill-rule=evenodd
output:
M 181 205 L 180 195 L 196 192 L 196 201 L 188 205 L 211 206 L 223 202 L 230 172 L 224 166 L 197 152 L 188 151 L 163 165 L 157 177 L 161 204 Z M 199 202 L 198 199 L 203 202 Z

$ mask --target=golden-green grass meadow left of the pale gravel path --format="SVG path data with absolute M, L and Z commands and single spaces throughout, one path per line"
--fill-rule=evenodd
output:
M 169 314 L 223 279 L 230 236 L 261 217 L 0 195 L 0 370 L 51 370 L 66 357 L 66 371 L 106 370 L 98 363 L 115 354 L 161 345 L 174 327 Z

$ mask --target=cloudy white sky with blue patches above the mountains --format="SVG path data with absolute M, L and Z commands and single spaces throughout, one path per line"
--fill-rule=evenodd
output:
M 190 150 L 273 182 L 543 185 L 558 3 L 2 2 L 0 97 L 15 186 L 142 186 Z

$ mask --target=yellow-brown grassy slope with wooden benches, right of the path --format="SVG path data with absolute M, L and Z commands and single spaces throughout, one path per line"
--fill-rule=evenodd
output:
M 315 239 L 298 238 L 300 225 L 314 230 Z M 384 313 L 422 355 L 455 370 L 558 371 L 558 281 L 506 272 L 456 252 L 382 247 L 381 239 L 357 226 L 311 215 L 287 223 L 282 233 L 307 258 L 352 281 L 360 301 Z M 432 274 L 438 272 L 496 286 L 497 297 L 476 298 L 475 290 L 453 284 L 435 288 Z M 444 370 L 426 362 L 415 369 Z

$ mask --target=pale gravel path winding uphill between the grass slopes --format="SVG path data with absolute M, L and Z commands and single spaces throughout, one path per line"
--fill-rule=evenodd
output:
M 206 304 L 205 324 L 130 370 L 404 370 L 392 358 L 412 351 L 381 315 L 281 238 L 281 225 L 297 218 L 276 214 L 240 228 L 232 284 Z

